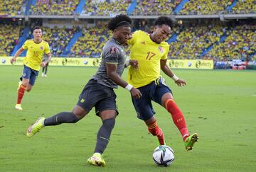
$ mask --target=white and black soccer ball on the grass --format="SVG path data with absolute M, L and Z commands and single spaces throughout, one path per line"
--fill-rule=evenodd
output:
M 169 166 L 174 162 L 174 151 L 166 145 L 156 147 L 153 152 L 153 159 L 159 166 Z

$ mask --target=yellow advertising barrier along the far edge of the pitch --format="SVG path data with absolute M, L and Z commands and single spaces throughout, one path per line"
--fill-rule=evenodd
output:
M 11 65 L 11 57 L 0 57 L 0 65 Z M 63 58 L 54 57 L 50 60 L 50 66 L 67 67 L 98 67 L 100 58 Z M 14 65 L 22 65 L 23 57 L 18 57 Z M 203 59 L 169 59 L 167 64 L 171 69 L 213 69 L 213 60 Z

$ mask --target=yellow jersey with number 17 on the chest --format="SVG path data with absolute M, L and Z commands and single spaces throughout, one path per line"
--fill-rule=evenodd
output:
M 128 45 L 131 46 L 130 59 L 139 62 L 138 69 L 129 67 L 128 83 L 139 88 L 158 79 L 161 76 L 160 60 L 167 59 L 169 44 L 167 42 L 158 44 L 149 38 L 148 33 L 137 30 L 132 34 L 132 39 L 128 40 Z

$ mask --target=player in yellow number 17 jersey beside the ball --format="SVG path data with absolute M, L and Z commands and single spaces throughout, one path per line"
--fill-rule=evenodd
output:
M 189 151 L 198 140 L 198 134 L 189 134 L 183 113 L 176 105 L 171 89 L 166 86 L 164 78 L 160 75 L 161 69 L 164 74 L 174 79 L 178 86 L 186 85 L 186 81 L 178 79 L 166 65 L 169 44 L 164 40 L 171 33 L 171 25 L 171 18 L 161 16 L 154 22 L 153 33 L 137 30 L 132 34 L 128 41 L 131 46 L 130 59 L 137 60 L 137 63 L 128 62 L 132 64 L 129 67 L 128 83 L 141 91 L 141 98 L 132 98 L 134 108 L 138 118 L 144 120 L 148 126 L 149 132 L 159 139 L 159 144 L 165 144 L 164 133 L 157 125 L 151 101 L 159 103 L 171 113 L 176 127 L 181 132 L 186 150 Z

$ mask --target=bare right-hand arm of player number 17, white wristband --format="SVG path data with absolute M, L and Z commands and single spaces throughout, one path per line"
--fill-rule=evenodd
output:
M 173 79 L 178 86 L 185 86 L 186 81 L 183 79 L 179 79 L 178 76 L 176 76 L 167 66 L 166 61 L 167 59 L 161 59 L 161 70 L 164 71 L 164 74 Z

